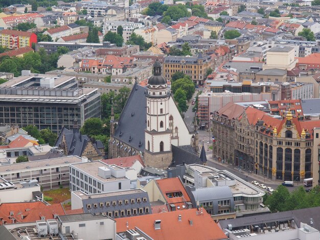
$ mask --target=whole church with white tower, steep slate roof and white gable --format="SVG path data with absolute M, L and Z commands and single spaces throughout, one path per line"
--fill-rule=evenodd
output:
M 189 131 L 161 68 L 156 61 L 147 87 L 133 86 L 116 128 L 111 110 L 109 158 L 140 154 L 147 166 L 162 168 L 200 162 L 197 126 Z

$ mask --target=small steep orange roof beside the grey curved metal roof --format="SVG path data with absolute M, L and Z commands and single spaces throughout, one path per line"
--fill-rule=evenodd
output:
M 165 178 L 165 179 L 159 179 L 155 180 L 156 184 L 159 187 L 159 190 L 162 192 L 162 195 L 166 199 L 168 204 L 178 204 L 181 203 L 181 205 L 184 205 L 184 202 L 189 202 L 190 197 L 187 194 L 187 191 L 182 185 L 179 178 Z M 167 194 L 169 193 L 177 193 L 181 192 L 183 197 L 168 197 Z M 182 206 L 180 207 L 182 210 Z

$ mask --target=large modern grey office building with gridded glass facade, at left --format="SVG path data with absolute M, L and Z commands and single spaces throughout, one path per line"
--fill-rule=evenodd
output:
M 98 89 L 78 88 L 75 77 L 30 74 L 0 85 L 0 123 L 39 130 L 50 128 L 58 133 L 73 126 L 74 119 L 82 126 L 91 117 L 101 116 Z

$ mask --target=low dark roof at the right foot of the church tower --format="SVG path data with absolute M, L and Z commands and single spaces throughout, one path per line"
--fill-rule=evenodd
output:
M 190 145 L 186 146 L 173 146 L 172 147 L 172 163 L 170 167 L 181 164 L 194 164 L 200 163 L 198 154 Z

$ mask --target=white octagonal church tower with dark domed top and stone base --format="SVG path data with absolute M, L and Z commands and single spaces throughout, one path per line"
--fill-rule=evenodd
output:
M 146 165 L 168 167 L 172 161 L 171 130 L 169 129 L 170 91 L 161 73 L 161 63 L 153 65 L 153 76 L 149 78 L 147 90 L 147 128 L 145 130 Z M 138 103 L 137 103 L 138 104 Z

